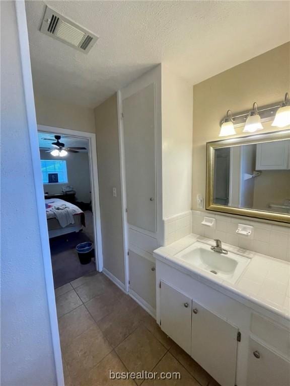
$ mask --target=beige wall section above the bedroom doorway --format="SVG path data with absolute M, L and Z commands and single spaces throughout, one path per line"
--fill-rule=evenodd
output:
M 94 110 L 34 95 L 38 125 L 95 133 Z

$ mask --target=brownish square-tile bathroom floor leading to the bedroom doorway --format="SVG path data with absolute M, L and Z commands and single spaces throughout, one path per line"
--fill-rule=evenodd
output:
M 65 386 L 219 386 L 102 273 L 55 289 Z M 112 371 L 177 371 L 179 380 L 112 380 Z

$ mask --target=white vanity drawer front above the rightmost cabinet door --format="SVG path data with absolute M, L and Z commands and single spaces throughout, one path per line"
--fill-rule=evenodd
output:
M 252 313 L 251 332 L 274 350 L 290 359 L 289 330 L 260 315 Z

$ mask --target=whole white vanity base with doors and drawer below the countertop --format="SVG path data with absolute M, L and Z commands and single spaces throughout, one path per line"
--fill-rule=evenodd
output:
M 289 323 L 156 256 L 157 323 L 221 386 L 289 386 Z

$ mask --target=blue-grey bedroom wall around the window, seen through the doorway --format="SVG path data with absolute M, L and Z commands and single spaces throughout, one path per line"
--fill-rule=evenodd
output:
M 57 159 L 40 150 L 41 159 Z M 91 201 L 90 164 L 88 153 L 68 153 L 62 160 L 66 161 L 67 183 L 44 184 L 43 190 L 49 194 L 61 194 L 61 189 L 66 185 L 73 185 L 76 190 L 76 199 L 84 203 Z

